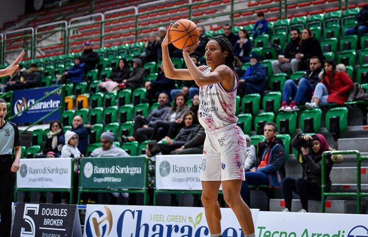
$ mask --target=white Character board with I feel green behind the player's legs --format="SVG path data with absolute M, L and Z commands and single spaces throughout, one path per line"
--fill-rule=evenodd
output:
M 253 222 L 259 209 L 251 209 Z M 244 237 L 235 214 L 221 208 L 223 237 Z M 209 237 L 203 207 L 87 205 L 84 237 Z

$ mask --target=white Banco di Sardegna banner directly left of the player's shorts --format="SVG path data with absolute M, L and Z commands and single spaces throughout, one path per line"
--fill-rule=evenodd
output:
M 157 190 L 202 190 L 202 155 L 156 156 Z

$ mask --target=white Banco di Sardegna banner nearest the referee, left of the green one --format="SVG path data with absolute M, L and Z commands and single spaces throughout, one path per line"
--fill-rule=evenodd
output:
M 69 189 L 73 158 L 20 159 L 16 172 L 18 188 Z

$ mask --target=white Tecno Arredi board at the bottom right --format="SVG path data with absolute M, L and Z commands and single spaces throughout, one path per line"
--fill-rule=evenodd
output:
M 367 237 L 368 216 L 260 211 L 256 237 Z

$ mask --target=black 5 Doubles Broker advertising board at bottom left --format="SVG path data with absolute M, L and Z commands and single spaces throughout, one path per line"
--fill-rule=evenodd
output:
M 18 203 L 12 237 L 81 237 L 77 205 Z

